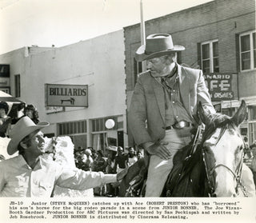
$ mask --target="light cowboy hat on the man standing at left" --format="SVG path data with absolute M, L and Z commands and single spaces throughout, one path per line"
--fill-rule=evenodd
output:
M 22 141 L 22 139 L 28 136 L 30 133 L 33 133 L 36 130 L 40 130 L 49 125 L 49 122 L 42 121 L 39 122 L 38 125 L 34 124 L 34 121 L 30 119 L 30 117 L 22 117 L 10 130 L 10 142 L 7 146 L 7 153 L 9 155 L 14 154 L 18 149 L 18 143 Z

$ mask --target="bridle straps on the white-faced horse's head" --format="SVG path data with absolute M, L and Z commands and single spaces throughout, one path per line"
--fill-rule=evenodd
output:
M 216 146 L 218 144 L 218 141 L 221 139 L 222 135 L 225 133 L 226 128 L 228 124 L 226 124 L 225 126 L 222 127 L 221 132 L 219 133 L 218 139 L 217 141 L 214 143 L 214 146 Z M 203 142 L 206 141 L 206 139 L 210 136 L 210 134 L 206 134 L 206 136 L 203 137 L 202 140 L 202 160 L 204 162 L 205 168 L 206 168 L 206 177 L 207 177 L 207 181 L 208 181 L 208 186 L 210 191 L 208 192 L 208 196 L 209 197 L 215 197 L 214 196 L 214 185 L 215 185 L 215 181 L 214 181 L 214 171 L 215 169 L 217 169 L 218 167 L 222 166 L 226 169 L 229 170 L 229 172 L 233 175 L 235 181 L 236 181 L 236 187 L 235 187 L 235 192 L 239 193 L 239 188 L 241 188 L 242 193 L 245 197 L 248 197 L 246 188 L 244 185 L 242 185 L 242 181 L 241 181 L 241 177 L 242 177 L 242 156 L 241 159 L 239 160 L 239 164 L 238 164 L 238 168 L 236 169 L 236 171 L 234 172 L 232 169 L 230 169 L 230 167 L 228 167 L 227 165 L 224 164 L 218 164 L 218 165 L 214 165 L 213 167 L 209 168 L 209 166 L 206 163 L 206 152 L 203 146 Z M 245 142 L 243 142 L 245 145 Z M 243 153 L 243 152 L 242 152 Z

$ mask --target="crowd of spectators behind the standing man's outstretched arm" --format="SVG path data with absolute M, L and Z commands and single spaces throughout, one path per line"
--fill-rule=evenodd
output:
M 117 147 L 117 151 L 106 149 L 106 153 L 95 150 L 93 147 L 83 149 L 78 146 L 74 149 L 74 161 L 78 169 L 85 171 L 103 172 L 103 173 L 120 173 L 130 165 L 133 165 L 138 159 L 141 159 L 142 152 L 135 151 L 133 147 L 126 149 L 125 153 L 122 146 Z M 94 188 L 95 196 L 118 197 L 119 182 L 103 185 Z

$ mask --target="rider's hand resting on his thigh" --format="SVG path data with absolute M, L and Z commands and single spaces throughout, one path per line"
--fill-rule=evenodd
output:
M 168 160 L 171 157 L 170 151 L 166 148 L 165 145 L 168 145 L 168 142 L 160 142 L 160 143 L 154 143 L 153 145 L 150 145 L 146 147 L 146 151 L 150 153 L 151 155 L 156 155 L 163 160 Z

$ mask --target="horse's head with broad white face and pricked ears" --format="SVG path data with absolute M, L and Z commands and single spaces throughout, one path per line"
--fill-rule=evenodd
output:
M 198 107 L 199 117 L 206 125 L 202 136 L 202 155 L 210 195 L 214 197 L 236 197 L 241 180 L 244 141 L 238 126 L 246 117 L 246 102 L 233 117 L 220 113 L 207 114 Z

